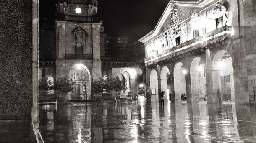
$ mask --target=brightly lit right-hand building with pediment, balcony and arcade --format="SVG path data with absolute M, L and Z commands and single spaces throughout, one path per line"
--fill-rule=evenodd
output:
M 170 0 L 145 45 L 147 97 L 254 103 L 256 12 L 253 0 Z M 251 10 L 254 9 L 254 10 Z

